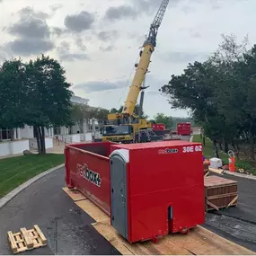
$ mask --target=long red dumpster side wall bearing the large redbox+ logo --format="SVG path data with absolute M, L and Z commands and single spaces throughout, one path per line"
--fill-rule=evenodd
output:
M 103 146 L 102 150 L 110 150 L 110 146 L 108 148 Z M 110 159 L 108 157 L 66 146 L 66 185 L 80 190 L 110 216 Z

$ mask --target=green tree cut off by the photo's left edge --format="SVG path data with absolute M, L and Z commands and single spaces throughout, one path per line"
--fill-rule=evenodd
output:
M 0 66 L 0 127 L 22 128 L 28 113 L 28 91 L 22 59 L 5 60 Z

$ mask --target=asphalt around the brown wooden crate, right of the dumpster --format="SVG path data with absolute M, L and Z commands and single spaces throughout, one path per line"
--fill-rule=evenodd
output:
M 238 205 L 207 213 L 209 230 L 256 252 L 256 181 L 224 175 L 238 181 Z

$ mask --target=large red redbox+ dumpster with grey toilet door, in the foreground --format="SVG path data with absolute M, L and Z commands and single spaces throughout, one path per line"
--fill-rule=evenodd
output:
M 66 146 L 66 183 L 130 243 L 203 224 L 202 146 L 184 141 Z

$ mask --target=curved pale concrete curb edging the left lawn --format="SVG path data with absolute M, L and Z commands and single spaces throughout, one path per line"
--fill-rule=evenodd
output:
M 51 172 L 55 172 L 64 166 L 65 166 L 65 163 L 62 163 L 62 164 L 57 165 L 56 167 L 49 169 L 48 171 L 42 172 L 39 175 L 31 178 L 31 180 L 24 182 L 18 188 L 9 192 L 6 196 L 4 196 L 4 198 L 0 199 L 0 209 L 2 207 L 4 207 L 11 199 L 16 197 L 22 190 L 25 190 L 26 188 L 28 188 L 33 182 L 40 180 L 40 178 L 48 175 Z

